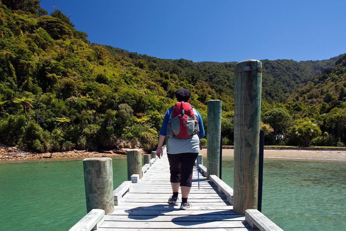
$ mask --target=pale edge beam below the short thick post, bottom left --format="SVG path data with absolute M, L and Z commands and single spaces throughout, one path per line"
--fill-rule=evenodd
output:
M 72 226 L 69 231 L 90 231 L 95 225 L 102 220 L 104 216 L 104 210 L 93 209 L 88 214 L 86 214 L 79 222 Z

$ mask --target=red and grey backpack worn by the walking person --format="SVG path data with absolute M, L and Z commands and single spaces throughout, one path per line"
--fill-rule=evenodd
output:
M 176 102 L 167 124 L 167 136 L 189 138 L 199 132 L 198 120 L 188 102 Z

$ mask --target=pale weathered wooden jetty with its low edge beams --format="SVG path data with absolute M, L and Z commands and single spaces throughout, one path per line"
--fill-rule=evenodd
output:
M 161 159 L 154 161 L 151 160 L 151 167 L 142 168 L 142 179 L 135 175 L 131 177 L 137 183 L 125 181 L 114 190 L 113 212 L 104 215 L 104 210 L 93 209 L 70 231 L 251 231 L 257 227 L 260 230 L 281 230 L 257 210 L 247 210 L 246 215 L 235 213 L 231 205 L 233 190 L 216 175 L 207 179 L 204 176 L 207 169 L 203 165 L 199 168 L 201 172 L 194 168 L 188 199 L 192 207 L 180 210 L 180 203 L 168 204 L 172 188 L 166 152 Z

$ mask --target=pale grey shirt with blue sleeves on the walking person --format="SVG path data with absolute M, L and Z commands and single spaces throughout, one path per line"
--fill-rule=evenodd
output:
M 160 129 L 160 135 L 167 135 L 167 123 L 172 113 L 173 108 L 166 111 L 165 116 L 162 121 L 162 126 Z M 200 113 L 193 109 L 193 112 L 198 115 L 198 127 L 199 127 L 199 137 L 198 134 L 186 139 L 179 139 L 175 137 L 168 137 L 167 140 L 167 153 L 168 154 L 178 154 L 178 153 L 199 153 L 199 139 L 202 139 L 205 135 L 203 121 Z

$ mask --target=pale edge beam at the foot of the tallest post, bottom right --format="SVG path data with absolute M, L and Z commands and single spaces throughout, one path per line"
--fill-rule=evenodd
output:
M 257 209 L 248 209 L 245 211 L 245 221 L 253 229 L 260 229 L 261 231 L 283 231 L 274 222 L 269 220 L 263 213 Z

